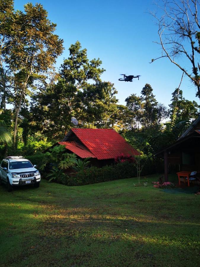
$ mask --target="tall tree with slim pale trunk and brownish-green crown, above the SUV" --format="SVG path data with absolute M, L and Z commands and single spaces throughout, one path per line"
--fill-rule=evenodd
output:
M 33 78 L 53 68 L 57 56 L 63 51 L 63 40 L 54 34 L 56 24 L 47 19 L 47 11 L 41 4 L 28 3 L 24 13 L 15 12 L 15 32 L 6 42 L 6 63 L 15 73 L 23 73 L 23 82 L 16 108 L 14 143 L 16 142 L 17 121 L 25 90 Z

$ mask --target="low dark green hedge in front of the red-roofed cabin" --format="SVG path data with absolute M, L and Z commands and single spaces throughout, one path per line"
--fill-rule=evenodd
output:
M 162 162 L 156 163 L 148 159 L 141 171 L 140 176 L 161 172 Z M 68 178 L 67 184 L 88 185 L 98 182 L 106 182 L 116 179 L 137 177 L 137 168 L 134 163 L 118 163 L 116 165 L 105 166 L 102 168 L 90 167 L 84 171 L 79 171 L 76 175 Z M 65 182 L 66 184 L 66 182 Z

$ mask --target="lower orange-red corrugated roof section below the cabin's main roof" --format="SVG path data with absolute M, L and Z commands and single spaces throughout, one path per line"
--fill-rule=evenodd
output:
M 95 158 L 95 156 L 87 150 L 87 148 L 79 145 L 76 142 L 58 142 L 60 145 L 65 145 L 65 148 L 75 153 L 81 158 Z

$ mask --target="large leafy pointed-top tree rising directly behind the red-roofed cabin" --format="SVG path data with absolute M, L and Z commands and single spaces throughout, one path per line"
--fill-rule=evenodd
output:
M 80 42 L 69 48 L 55 80 L 41 89 L 31 107 L 36 124 L 43 133 L 59 139 L 71 128 L 71 117 L 81 127 L 112 127 L 117 114 L 117 91 L 110 82 L 103 82 L 100 59 L 87 58 L 87 50 Z

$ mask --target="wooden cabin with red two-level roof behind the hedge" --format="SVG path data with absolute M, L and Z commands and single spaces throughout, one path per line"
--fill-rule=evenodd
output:
M 61 142 L 66 152 L 75 153 L 78 158 L 90 157 L 92 166 L 103 167 L 114 163 L 119 155 L 140 155 L 125 139 L 113 129 L 71 128 Z

